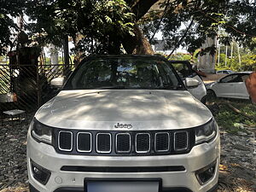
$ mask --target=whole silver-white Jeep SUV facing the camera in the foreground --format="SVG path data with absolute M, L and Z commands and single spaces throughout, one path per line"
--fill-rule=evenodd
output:
M 218 125 L 167 62 L 142 55 L 82 61 L 29 127 L 30 191 L 216 189 Z

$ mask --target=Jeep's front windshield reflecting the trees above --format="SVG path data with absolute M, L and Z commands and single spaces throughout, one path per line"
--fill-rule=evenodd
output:
M 64 90 L 183 89 L 165 61 L 147 58 L 105 58 L 79 65 Z

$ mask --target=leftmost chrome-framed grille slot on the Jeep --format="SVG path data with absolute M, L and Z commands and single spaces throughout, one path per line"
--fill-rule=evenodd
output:
M 60 131 L 58 141 L 59 148 L 61 151 L 72 151 L 73 133 L 71 131 Z

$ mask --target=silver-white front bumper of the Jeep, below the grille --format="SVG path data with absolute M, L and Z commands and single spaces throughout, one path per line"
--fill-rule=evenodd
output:
M 28 133 L 27 163 L 29 183 L 35 191 L 61 192 L 83 191 L 87 178 L 160 178 L 163 191 L 212 191 L 218 183 L 219 135 L 211 143 L 202 143 L 192 148 L 189 154 L 155 156 L 83 156 L 57 154 L 48 144 L 36 142 Z M 31 160 L 51 172 L 48 183 L 38 183 L 32 176 Z M 204 185 L 195 177 L 195 172 L 217 160 L 214 176 Z M 176 172 L 65 172 L 62 166 L 184 166 L 185 171 Z

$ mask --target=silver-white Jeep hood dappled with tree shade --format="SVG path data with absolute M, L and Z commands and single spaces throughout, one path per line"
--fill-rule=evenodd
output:
M 62 90 L 35 115 L 44 125 L 79 130 L 165 130 L 195 127 L 212 113 L 187 90 Z

